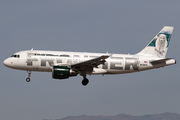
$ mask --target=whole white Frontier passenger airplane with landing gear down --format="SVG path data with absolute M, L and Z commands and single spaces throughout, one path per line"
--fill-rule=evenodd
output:
M 169 42 L 174 27 L 164 26 L 160 32 L 139 53 L 109 54 L 87 52 L 65 52 L 26 50 L 14 53 L 4 60 L 6 67 L 28 72 L 30 82 L 31 71 L 52 72 L 54 79 L 83 77 L 82 85 L 89 83 L 86 75 L 110 75 L 140 72 L 176 64 L 173 58 L 166 58 Z

